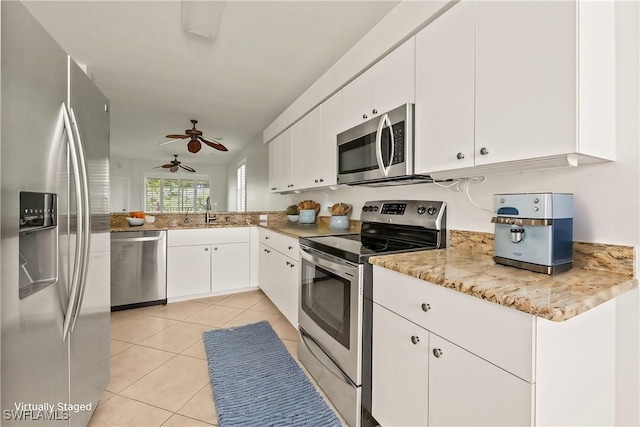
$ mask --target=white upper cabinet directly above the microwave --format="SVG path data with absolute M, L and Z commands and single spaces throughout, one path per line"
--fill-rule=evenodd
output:
M 342 130 L 415 100 L 415 38 L 407 40 L 349 83 Z

